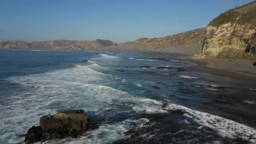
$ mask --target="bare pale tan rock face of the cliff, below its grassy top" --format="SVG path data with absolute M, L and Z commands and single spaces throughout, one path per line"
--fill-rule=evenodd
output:
M 256 29 L 248 27 L 248 24 L 237 23 L 226 23 L 219 27 L 208 26 L 200 54 L 195 58 L 235 58 L 245 51 L 251 43 L 251 37 L 256 33 Z

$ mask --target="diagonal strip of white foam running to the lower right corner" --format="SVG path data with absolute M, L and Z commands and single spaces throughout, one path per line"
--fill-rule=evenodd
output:
M 220 136 L 227 136 L 232 139 L 239 136 L 243 139 L 251 141 L 252 143 L 256 143 L 256 129 L 254 128 L 225 119 L 223 117 L 211 115 L 205 112 L 199 112 L 177 104 L 168 104 L 166 109 L 182 110 L 185 112 L 184 116 L 192 118 L 200 125 L 212 128 L 213 130 L 217 131 Z

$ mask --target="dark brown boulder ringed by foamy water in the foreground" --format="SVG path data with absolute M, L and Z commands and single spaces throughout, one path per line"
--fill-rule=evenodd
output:
M 83 109 L 59 112 L 55 115 L 40 117 L 40 126 L 29 128 L 26 143 L 77 137 L 87 130 L 89 119 Z

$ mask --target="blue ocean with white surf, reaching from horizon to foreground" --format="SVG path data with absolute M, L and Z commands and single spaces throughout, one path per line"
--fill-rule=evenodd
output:
M 44 144 L 256 143 L 255 88 L 190 72 L 196 64 L 177 57 L 0 51 L 0 144 L 20 143 L 41 116 L 71 109 L 99 127 Z

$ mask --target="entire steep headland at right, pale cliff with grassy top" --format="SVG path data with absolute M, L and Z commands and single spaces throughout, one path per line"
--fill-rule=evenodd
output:
M 221 13 L 206 32 L 195 58 L 255 59 L 256 1 Z

